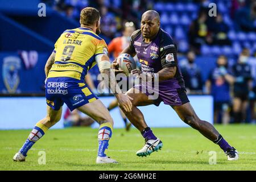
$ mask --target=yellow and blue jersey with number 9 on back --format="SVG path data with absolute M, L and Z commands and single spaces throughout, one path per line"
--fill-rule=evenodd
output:
M 95 56 L 108 54 L 104 39 L 89 28 L 66 30 L 55 43 L 54 64 L 47 78 L 70 77 L 84 82 L 86 73 L 96 65 Z

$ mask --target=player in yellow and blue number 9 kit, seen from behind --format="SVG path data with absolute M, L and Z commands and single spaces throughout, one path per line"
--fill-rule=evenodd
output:
M 132 98 L 122 94 L 118 87 L 110 68 L 108 47 L 97 35 L 100 34 L 99 11 L 92 7 L 83 9 L 80 24 L 80 28 L 64 31 L 55 43 L 45 67 L 47 115 L 36 123 L 22 148 L 14 155 L 14 161 L 25 160 L 33 144 L 60 120 L 65 103 L 71 111 L 78 109 L 100 123 L 96 163 L 117 163 L 105 154 L 112 137 L 113 119 L 108 109 L 85 84 L 86 73 L 97 63 L 102 76 L 107 78 L 104 79 L 106 84 L 127 112 L 131 111 Z

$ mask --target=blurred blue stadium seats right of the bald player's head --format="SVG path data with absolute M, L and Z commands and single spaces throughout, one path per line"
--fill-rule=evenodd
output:
M 230 18 L 231 1 L 220 0 L 213 1 L 217 3 L 218 12 L 222 14 L 224 22 L 229 26 L 228 38 L 232 42 L 232 46 L 207 46 L 201 47 L 203 55 L 219 55 L 224 53 L 229 56 L 237 56 L 243 47 L 250 48 L 251 52 L 255 51 L 256 32 L 237 31 L 232 18 Z M 171 36 L 174 37 L 177 44 L 184 45 L 184 41 L 188 42 L 187 31 L 192 20 L 197 18 L 199 11 L 199 3 L 195 2 L 157 2 L 154 9 L 159 11 L 161 15 L 162 27 L 166 29 Z M 182 30 L 181 30 L 182 29 Z M 184 34 L 184 35 L 182 35 Z M 182 42 L 182 43 L 180 43 Z M 188 47 L 178 47 L 180 52 L 188 51 Z M 211 51 L 213 49 L 213 51 Z

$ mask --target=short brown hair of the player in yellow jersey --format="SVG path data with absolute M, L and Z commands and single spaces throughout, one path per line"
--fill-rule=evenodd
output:
M 100 19 L 100 12 L 94 7 L 85 7 L 80 14 L 81 24 L 92 26 Z

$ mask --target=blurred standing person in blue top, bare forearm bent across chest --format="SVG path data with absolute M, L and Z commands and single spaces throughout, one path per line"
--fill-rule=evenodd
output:
M 214 68 L 205 84 L 207 93 L 212 94 L 214 100 L 214 122 L 228 124 L 230 121 L 230 85 L 234 83 L 232 73 L 228 71 L 228 60 L 225 56 L 219 56 L 217 67 Z

